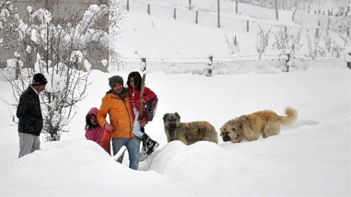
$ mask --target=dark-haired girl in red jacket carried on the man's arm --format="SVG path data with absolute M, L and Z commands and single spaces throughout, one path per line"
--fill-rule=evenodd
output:
M 128 75 L 127 91 L 131 98 L 132 109 L 135 116 L 132 133 L 138 136 L 141 142 L 143 142 L 143 148 L 141 149 L 140 157 L 139 157 L 139 160 L 143 161 L 144 159 L 146 159 L 148 156 L 151 155 L 151 153 L 155 150 L 155 148 L 158 147 L 159 143 L 152 140 L 150 136 L 148 136 L 145 133 L 144 126 L 147 123 L 147 120 L 145 118 L 146 117 L 145 110 L 143 110 L 144 111 L 143 120 L 140 120 L 139 100 L 140 100 L 141 81 L 142 79 L 139 72 L 131 72 Z M 144 94 L 143 94 L 144 102 L 148 102 L 151 99 L 154 99 L 155 97 L 156 97 L 156 94 L 152 90 L 150 90 L 147 87 L 144 87 Z M 145 104 L 143 108 L 145 109 Z

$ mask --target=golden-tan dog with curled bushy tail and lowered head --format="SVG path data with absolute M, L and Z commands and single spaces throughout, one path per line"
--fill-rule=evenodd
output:
M 281 124 L 292 124 L 297 118 L 297 111 L 291 107 L 285 108 L 285 114 L 279 116 L 274 111 L 264 110 L 240 116 L 226 122 L 220 128 L 220 136 L 224 142 L 236 143 L 257 140 L 259 136 L 278 135 Z

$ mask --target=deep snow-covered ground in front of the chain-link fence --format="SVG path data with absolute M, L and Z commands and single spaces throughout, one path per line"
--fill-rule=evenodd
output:
M 0 196 L 349 196 L 351 192 L 351 78 L 347 68 L 314 68 L 279 74 L 147 75 L 159 97 L 146 131 L 160 143 L 139 171 L 111 161 L 85 140 L 85 115 L 99 107 L 108 77 L 129 71 L 94 71 L 87 98 L 59 142 L 18 155 L 16 126 L 1 101 Z M 0 83 L 1 97 L 11 88 Z M 277 136 L 244 143 L 167 143 L 162 117 L 178 112 L 182 122 L 206 120 L 219 128 L 231 118 L 286 106 L 298 120 Z

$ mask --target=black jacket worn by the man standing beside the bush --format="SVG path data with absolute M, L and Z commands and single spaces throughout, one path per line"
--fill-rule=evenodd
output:
M 40 135 L 43 128 L 40 101 L 31 86 L 28 86 L 21 94 L 16 116 L 18 117 L 18 132 Z

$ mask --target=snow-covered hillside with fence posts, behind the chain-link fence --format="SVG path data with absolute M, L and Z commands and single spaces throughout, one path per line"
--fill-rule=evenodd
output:
M 258 55 L 256 46 L 259 45 L 260 28 L 263 33 L 270 31 L 269 46 L 262 58 L 265 58 L 265 55 L 269 55 L 267 58 L 276 58 L 290 51 L 290 49 L 283 51 L 284 48 L 278 50 L 277 43 L 274 45 L 277 41 L 275 35 L 278 39 L 284 37 L 284 27 L 286 27 L 287 36 L 293 35 L 285 48 L 291 47 L 293 42 L 296 43 L 294 39 L 297 40 L 297 34 L 300 34 L 300 48 L 295 47 L 295 55 L 308 56 L 310 50 L 307 35 L 311 43 L 314 43 L 316 33 L 315 25 L 302 26 L 293 22 L 292 11 L 279 11 L 279 20 L 276 20 L 274 9 L 239 3 L 239 11 L 236 14 L 233 1 L 221 1 L 220 28 L 217 28 L 217 7 L 213 8 L 212 1 L 193 1 L 194 8 L 191 10 L 186 8 L 188 1 L 129 2 L 130 10 L 120 27 L 124 31 L 120 42 L 115 43 L 116 51 L 125 61 L 137 61 L 136 59 L 140 56 L 161 59 L 207 57 L 209 54 L 214 57 Z M 147 14 L 148 4 L 150 4 L 150 15 Z M 217 3 L 214 5 L 217 6 Z M 209 9 L 204 9 L 205 7 Z M 174 8 L 176 8 L 176 20 L 173 18 Z M 196 10 L 198 10 L 198 24 L 195 23 Z M 315 15 L 311 15 L 310 18 L 314 20 Z M 247 32 L 247 21 L 249 21 L 249 32 Z M 324 40 L 326 35 L 329 35 L 332 42 L 335 41 L 331 47 L 337 45 L 344 48 L 345 42 L 340 38 L 339 33 L 330 31 L 326 34 L 326 29 L 321 28 L 319 35 L 318 46 L 325 52 L 326 57 L 337 56 L 335 52 L 328 52 L 326 49 Z M 233 54 L 226 42 L 226 37 L 233 42 L 235 36 L 239 51 L 234 51 Z

